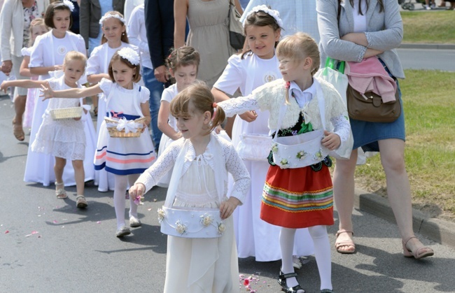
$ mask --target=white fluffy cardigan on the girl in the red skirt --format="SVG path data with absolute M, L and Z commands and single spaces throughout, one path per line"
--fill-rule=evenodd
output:
M 325 102 L 325 125 L 328 131 L 335 132 L 341 138 L 342 142 L 347 141 L 350 134 L 349 118 L 346 112 L 346 106 L 342 101 L 335 87 L 325 80 L 314 78 L 314 83 L 319 83 L 324 96 Z M 225 111 L 228 117 L 235 114 L 245 113 L 247 110 L 269 110 L 268 127 L 270 134 L 276 130 L 278 124 L 279 109 L 286 101 L 286 87 L 283 79 L 274 80 L 266 83 L 246 97 L 238 97 L 218 103 Z M 289 95 L 289 104 L 286 108 L 280 129 L 288 129 L 297 123 L 300 112 L 303 113 L 306 123 L 311 122 L 313 129 L 321 129 L 321 115 L 319 113 L 318 99 L 313 97 L 304 108 L 300 108 L 297 101 Z

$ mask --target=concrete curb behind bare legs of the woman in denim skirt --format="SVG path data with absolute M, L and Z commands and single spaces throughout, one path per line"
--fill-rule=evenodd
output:
M 371 194 L 356 188 L 354 207 L 381 217 L 388 222 L 396 223 L 388 200 L 377 194 Z M 412 209 L 412 227 L 431 240 L 455 248 L 455 223 L 424 215 L 420 210 Z

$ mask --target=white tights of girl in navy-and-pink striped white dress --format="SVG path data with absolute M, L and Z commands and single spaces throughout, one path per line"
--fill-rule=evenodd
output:
M 133 186 L 140 174 L 116 175 L 114 190 L 114 208 L 116 208 L 117 229 L 125 225 L 125 191 L 128 185 Z M 137 204 L 130 198 L 130 217 L 137 217 Z

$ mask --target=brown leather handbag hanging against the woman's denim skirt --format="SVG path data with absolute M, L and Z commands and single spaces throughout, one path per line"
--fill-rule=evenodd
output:
M 383 103 L 381 96 L 374 92 L 360 92 L 348 85 L 346 90 L 349 117 L 367 122 L 393 122 L 400 117 L 401 103 L 398 90 L 395 101 Z

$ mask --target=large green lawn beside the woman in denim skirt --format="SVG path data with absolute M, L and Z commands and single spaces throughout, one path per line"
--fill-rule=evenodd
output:
M 442 217 L 455 220 L 455 73 L 405 73 L 400 87 L 412 201 L 419 207 L 438 207 Z M 379 155 L 358 166 L 356 183 L 369 192 L 385 194 L 386 179 Z

